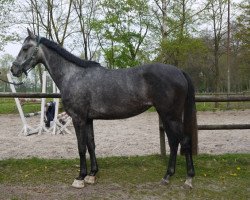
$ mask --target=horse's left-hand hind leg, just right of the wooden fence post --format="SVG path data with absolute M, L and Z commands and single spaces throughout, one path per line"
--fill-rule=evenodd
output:
M 176 157 L 179 145 L 179 135 L 182 133 L 182 123 L 179 120 L 170 120 L 162 118 L 164 129 L 168 137 L 170 147 L 170 156 L 168 161 L 167 172 L 162 179 L 162 184 L 169 183 L 169 179 L 175 173 Z

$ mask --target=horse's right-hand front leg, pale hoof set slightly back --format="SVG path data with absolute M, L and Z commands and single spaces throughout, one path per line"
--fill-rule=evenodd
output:
M 94 129 L 93 129 L 93 120 L 87 121 L 87 147 L 88 152 L 90 156 L 90 162 L 91 162 L 91 170 L 89 175 L 85 177 L 85 182 L 89 184 L 96 183 L 96 173 L 98 172 L 98 165 L 96 161 L 96 155 L 95 155 L 95 140 L 94 140 Z

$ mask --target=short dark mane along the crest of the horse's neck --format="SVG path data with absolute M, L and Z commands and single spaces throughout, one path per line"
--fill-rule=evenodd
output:
M 40 39 L 40 43 L 44 44 L 46 47 L 48 47 L 49 49 L 54 50 L 56 53 L 58 53 L 60 56 L 62 56 L 63 58 L 65 58 L 66 60 L 78 65 L 79 67 L 101 67 L 100 63 L 95 62 L 95 61 L 91 61 L 91 60 L 83 60 L 75 55 L 73 55 L 72 53 L 68 52 L 66 49 L 64 49 L 63 47 L 61 47 L 59 44 L 48 40 L 44 37 L 42 37 Z

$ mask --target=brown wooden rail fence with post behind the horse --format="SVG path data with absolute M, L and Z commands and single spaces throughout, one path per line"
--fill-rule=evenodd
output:
M 61 98 L 58 93 L 0 93 L 0 98 Z M 250 96 L 205 96 L 195 97 L 196 102 L 246 102 L 250 101 Z M 199 130 L 229 130 L 229 129 L 250 129 L 250 124 L 222 124 L 222 125 L 198 125 Z M 159 120 L 160 131 L 160 151 L 161 155 L 166 155 L 165 133 L 161 120 Z

